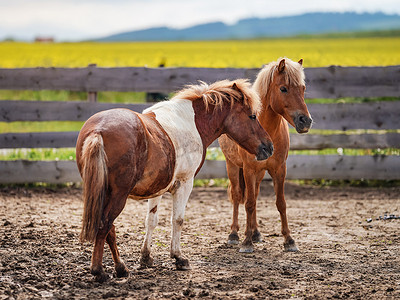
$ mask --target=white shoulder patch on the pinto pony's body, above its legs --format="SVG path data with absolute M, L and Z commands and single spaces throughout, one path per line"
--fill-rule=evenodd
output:
M 193 177 L 203 157 L 203 143 L 194 120 L 193 102 L 173 98 L 143 111 L 149 112 L 156 115 L 175 147 L 176 164 L 172 182 Z

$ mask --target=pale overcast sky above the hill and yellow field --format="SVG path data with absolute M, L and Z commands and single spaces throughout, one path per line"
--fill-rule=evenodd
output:
M 348 11 L 400 14 L 400 0 L 0 0 L 0 40 L 76 41 L 157 26 Z

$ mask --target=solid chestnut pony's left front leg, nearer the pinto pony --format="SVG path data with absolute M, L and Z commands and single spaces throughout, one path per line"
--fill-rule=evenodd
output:
M 258 173 L 251 168 L 243 169 L 244 181 L 246 184 L 246 232 L 245 239 L 240 247 L 240 252 L 253 252 L 253 239 L 260 239 L 260 233 L 257 229 L 257 214 L 256 204 L 257 197 L 260 191 L 260 183 L 264 178 L 265 171 L 261 170 Z

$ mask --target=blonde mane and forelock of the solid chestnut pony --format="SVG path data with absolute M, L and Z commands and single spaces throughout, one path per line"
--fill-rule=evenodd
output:
M 285 60 L 285 70 L 283 75 L 287 85 L 304 86 L 305 76 L 303 66 L 289 58 L 279 58 L 277 61 L 265 65 L 258 73 L 253 89 L 262 97 L 266 97 L 268 88 L 274 80 L 275 70 L 279 66 L 279 62 Z

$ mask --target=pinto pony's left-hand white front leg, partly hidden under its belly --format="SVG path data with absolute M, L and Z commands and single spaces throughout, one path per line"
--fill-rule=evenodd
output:
M 141 250 L 140 267 L 147 268 L 153 266 L 153 258 L 151 257 L 151 236 L 154 228 L 158 224 L 158 205 L 162 196 L 149 199 L 147 202 L 148 210 L 146 216 L 146 235 L 144 237 Z

